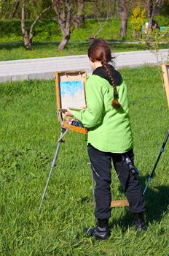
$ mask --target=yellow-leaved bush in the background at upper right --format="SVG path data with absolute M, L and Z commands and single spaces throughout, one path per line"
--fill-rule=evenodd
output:
M 133 31 L 141 31 L 141 27 L 144 26 L 146 18 L 146 9 L 143 9 L 140 4 L 133 10 L 133 14 L 130 18 L 130 24 L 133 28 Z

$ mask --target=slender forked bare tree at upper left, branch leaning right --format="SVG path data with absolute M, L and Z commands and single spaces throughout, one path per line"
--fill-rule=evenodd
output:
M 33 29 L 35 24 L 37 23 L 37 21 L 39 20 L 39 18 L 41 18 L 42 14 L 44 12 L 47 12 L 47 10 L 50 10 L 50 8 L 52 7 L 52 5 L 50 5 L 50 7 L 45 8 L 39 15 L 38 17 L 34 20 L 34 23 L 31 24 L 31 28 L 28 30 L 25 27 L 25 0 L 23 0 L 23 4 L 22 4 L 22 18 L 21 18 L 21 29 L 22 29 L 22 34 L 23 34 L 23 42 L 25 45 L 26 49 L 31 49 L 31 45 L 32 45 L 32 39 L 33 39 Z

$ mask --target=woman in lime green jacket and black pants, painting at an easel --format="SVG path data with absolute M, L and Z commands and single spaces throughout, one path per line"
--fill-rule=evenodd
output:
M 87 80 L 87 108 L 66 111 L 88 129 L 87 149 L 95 179 L 96 227 L 86 231 L 98 239 L 109 237 L 111 217 L 111 159 L 125 189 L 137 230 L 144 230 L 146 209 L 140 184 L 133 170 L 133 137 L 128 115 L 127 87 L 112 67 L 111 50 L 103 39 L 94 39 L 88 49 L 93 75 Z

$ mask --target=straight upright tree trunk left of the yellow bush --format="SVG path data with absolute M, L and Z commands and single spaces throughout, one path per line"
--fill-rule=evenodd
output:
M 127 34 L 127 0 L 120 0 L 119 4 L 121 19 L 120 37 L 123 38 Z

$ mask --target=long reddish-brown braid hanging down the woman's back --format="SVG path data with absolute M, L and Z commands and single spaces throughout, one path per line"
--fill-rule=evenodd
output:
M 115 86 L 115 83 L 114 83 L 114 77 L 112 76 L 112 74 L 109 70 L 107 62 L 106 61 L 101 61 L 101 64 L 106 69 L 107 75 L 109 75 L 109 78 L 111 80 L 111 86 L 113 86 L 113 90 L 114 90 L 114 99 L 112 100 L 111 105 L 114 108 L 119 108 L 120 107 L 120 104 L 119 104 L 119 101 L 118 101 L 119 95 L 117 93 L 117 86 Z

